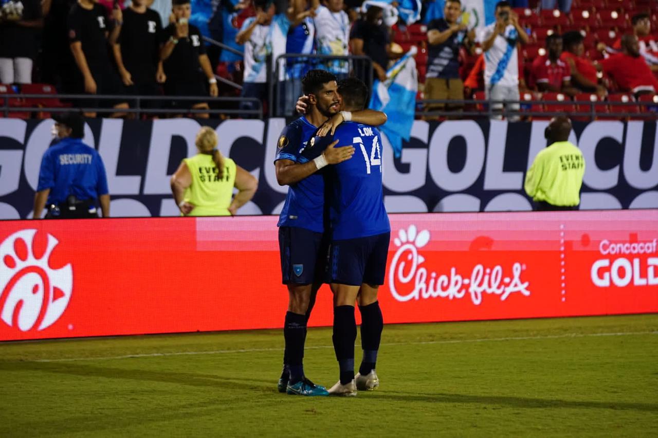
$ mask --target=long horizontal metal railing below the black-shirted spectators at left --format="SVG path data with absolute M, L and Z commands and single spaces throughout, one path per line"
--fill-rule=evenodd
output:
M 22 101 L 25 99 L 35 100 L 40 99 L 47 103 L 47 101 L 78 101 L 83 103 L 78 107 L 39 107 L 28 105 L 12 105 L 10 101 Z M 109 100 L 117 103 L 126 102 L 130 105 L 128 109 L 116 108 L 94 108 L 85 107 L 84 101 L 90 100 Z M 210 97 L 210 96 L 134 96 L 134 95 L 89 95 L 89 94 L 0 94 L 0 101 L 2 105 L 0 110 L 5 117 L 9 117 L 10 112 L 68 112 L 71 110 L 82 112 L 99 112 L 101 114 L 113 113 L 130 113 L 136 114 L 139 118 L 141 114 L 225 114 L 225 115 L 238 115 L 238 116 L 251 116 L 263 118 L 263 103 L 255 97 Z M 210 109 L 179 109 L 179 108 L 144 108 L 143 103 L 154 102 L 171 102 L 171 101 L 193 101 L 208 103 Z M 254 109 L 240 109 L 231 108 L 231 106 L 240 105 L 241 102 L 249 102 L 255 105 Z M 224 108 L 213 108 L 224 103 Z

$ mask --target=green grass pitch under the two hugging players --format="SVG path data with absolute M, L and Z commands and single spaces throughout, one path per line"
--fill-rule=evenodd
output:
M 378 390 L 280 394 L 282 331 L 0 344 L 0 437 L 657 436 L 658 315 L 386 326 Z M 357 363 L 360 360 L 357 339 Z M 331 329 L 305 370 L 338 379 Z

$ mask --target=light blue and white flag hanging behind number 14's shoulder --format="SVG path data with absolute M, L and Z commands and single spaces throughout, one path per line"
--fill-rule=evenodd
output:
M 385 112 L 386 124 L 380 128 L 393 147 L 393 154 L 402 153 L 402 141 L 409 141 L 416 112 L 418 71 L 416 70 L 416 47 L 411 47 L 401 59 L 386 72 L 386 81 L 375 80 L 372 84 L 370 109 Z

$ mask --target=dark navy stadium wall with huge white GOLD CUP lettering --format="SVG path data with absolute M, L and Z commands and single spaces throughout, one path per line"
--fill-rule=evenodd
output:
M 384 189 L 389 212 L 530 210 L 524 174 L 546 146 L 547 121 L 416 120 L 401 158 L 384 139 Z M 259 179 L 241 214 L 278 214 L 287 187 L 276 183 L 272 160 L 286 120 L 226 120 L 211 124 L 220 149 Z M 28 218 L 52 120 L 0 119 L 0 218 Z M 176 216 L 169 188 L 180 160 L 195 153 L 199 122 L 89 120 L 85 141 L 107 168 L 113 216 Z M 586 172 L 582 209 L 658 208 L 655 122 L 576 122 L 571 140 Z

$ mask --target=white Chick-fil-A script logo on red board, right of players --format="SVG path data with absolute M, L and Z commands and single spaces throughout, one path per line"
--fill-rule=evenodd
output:
M 519 262 L 512 265 L 512 275 L 505 276 L 503 267 L 495 265 L 486 268 L 482 264 L 473 267 L 470 276 L 464 277 L 457 268 L 450 268 L 450 274 L 436 274 L 423 266 L 424 256 L 418 250 L 430 241 L 430 231 L 419 233 L 415 225 L 407 230 L 400 230 L 393 243 L 398 247 L 388 272 L 388 285 L 393 298 L 405 302 L 412 299 L 447 298 L 461 299 L 468 293 L 470 300 L 476 306 L 482 303 L 482 294 L 499 295 L 505 301 L 509 295 L 519 292 L 530 295 L 528 281 L 521 280 L 523 266 Z M 410 291 L 400 291 L 405 285 L 413 285 Z M 409 289 L 409 287 L 405 287 Z

